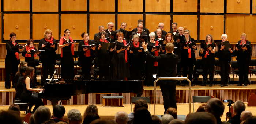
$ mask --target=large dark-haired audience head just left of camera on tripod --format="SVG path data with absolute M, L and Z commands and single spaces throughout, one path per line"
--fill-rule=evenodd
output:
M 211 113 L 216 118 L 217 124 L 221 124 L 221 116 L 223 115 L 225 106 L 218 98 L 211 98 L 206 104 L 206 112 Z

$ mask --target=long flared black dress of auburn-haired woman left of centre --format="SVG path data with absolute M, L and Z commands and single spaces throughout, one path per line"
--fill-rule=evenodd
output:
M 129 65 L 128 60 L 125 60 L 125 51 L 120 51 L 117 53 L 117 50 L 120 50 L 124 47 L 124 43 L 116 41 L 116 46 L 114 49 L 114 55 L 111 60 L 112 63 L 112 79 L 113 80 L 127 80 L 129 77 Z M 127 51 L 128 53 L 128 51 Z M 128 57 L 128 56 L 127 56 Z M 128 59 L 128 58 L 127 58 Z

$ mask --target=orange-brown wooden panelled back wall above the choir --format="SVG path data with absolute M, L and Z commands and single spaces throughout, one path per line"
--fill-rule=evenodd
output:
M 240 40 L 245 32 L 248 40 L 256 43 L 255 0 L 1 0 L 0 41 L 5 43 L 10 32 L 17 34 L 18 42 L 32 38 L 36 42 L 43 38 L 46 29 L 53 31 L 59 39 L 64 30 L 71 30 L 71 37 L 82 39 L 80 34 L 88 32 L 90 39 L 105 29 L 108 22 L 127 22 L 127 30 L 137 26 L 143 19 L 144 26 L 155 31 L 159 22 L 170 31 L 170 24 L 177 22 L 191 31 L 191 37 L 204 40 L 212 34 L 221 40 L 226 33 L 232 43 Z

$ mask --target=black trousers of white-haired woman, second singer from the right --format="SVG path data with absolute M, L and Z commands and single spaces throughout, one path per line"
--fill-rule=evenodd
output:
M 229 64 L 230 61 L 220 60 L 221 64 L 221 82 L 223 85 L 227 84 L 229 81 Z

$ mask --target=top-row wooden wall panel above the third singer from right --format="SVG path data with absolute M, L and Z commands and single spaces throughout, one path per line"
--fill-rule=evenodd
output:
M 223 13 L 224 0 L 200 0 L 200 12 Z

